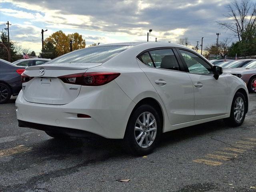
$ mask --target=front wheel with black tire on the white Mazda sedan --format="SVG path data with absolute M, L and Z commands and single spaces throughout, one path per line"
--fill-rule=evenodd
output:
M 242 125 L 246 115 L 246 100 L 242 93 L 237 92 L 233 98 L 230 117 L 224 119 L 230 126 L 236 127 Z

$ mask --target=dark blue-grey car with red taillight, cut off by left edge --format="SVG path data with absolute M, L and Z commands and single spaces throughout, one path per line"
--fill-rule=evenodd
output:
M 0 104 L 19 94 L 22 88 L 20 75 L 24 70 L 25 67 L 0 59 Z

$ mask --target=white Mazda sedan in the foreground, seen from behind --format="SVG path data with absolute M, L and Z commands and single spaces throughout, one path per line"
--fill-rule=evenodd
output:
M 16 99 L 20 127 L 54 138 L 124 139 L 137 155 L 152 152 L 162 132 L 223 118 L 240 126 L 248 111 L 240 78 L 170 43 L 76 50 L 26 68 L 22 82 Z

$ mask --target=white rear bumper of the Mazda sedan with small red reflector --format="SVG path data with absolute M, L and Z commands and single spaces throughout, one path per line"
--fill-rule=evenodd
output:
M 135 103 L 115 82 L 110 84 L 111 87 L 92 92 L 81 88 L 78 97 L 65 105 L 28 102 L 21 90 L 16 99 L 17 119 L 22 127 L 40 130 L 47 127 L 48 131 L 54 127 L 54 130 L 61 132 L 61 128 L 64 132 L 65 128 L 70 128 L 105 138 L 122 139 Z M 78 118 L 77 114 L 86 114 L 91 118 Z

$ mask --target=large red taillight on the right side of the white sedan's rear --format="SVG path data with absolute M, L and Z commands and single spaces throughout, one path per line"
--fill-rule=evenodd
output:
M 116 72 L 89 72 L 60 76 L 64 83 L 83 86 L 100 86 L 117 78 L 120 73 Z

